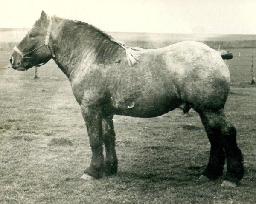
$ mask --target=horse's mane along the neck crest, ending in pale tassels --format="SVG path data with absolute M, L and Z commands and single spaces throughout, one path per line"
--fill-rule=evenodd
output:
M 127 61 L 129 65 L 134 65 L 140 60 L 140 52 L 146 51 L 146 49 L 139 48 L 139 47 L 128 47 L 126 46 L 123 42 L 120 42 L 116 39 L 114 39 L 111 35 L 107 34 L 106 32 L 100 30 L 99 28 L 96 28 L 93 25 L 90 25 L 88 23 L 78 21 L 78 20 L 68 20 L 69 22 L 74 22 L 78 25 L 84 25 L 87 26 L 88 28 L 92 29 L 93 31 L 96 31 L 98 34 L 100 34 L 102 37 L 105 37 L 106 39 L 110 40 L 114 44 L 118 45 L 119 47 L 122 47 L 125 49 Z

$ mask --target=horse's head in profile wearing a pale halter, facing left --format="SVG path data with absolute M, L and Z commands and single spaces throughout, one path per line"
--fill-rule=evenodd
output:
M 42 11 L 40 19 L 12 51 L 10 63 L 13 69 L 25 71 L 55 57 L 49 44 L 51 27 L 51 17 Z

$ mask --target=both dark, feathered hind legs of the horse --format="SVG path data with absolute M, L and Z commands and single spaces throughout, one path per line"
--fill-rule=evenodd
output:
M 235 127 L 224 115 L 223 109 L 217 112 L 203 111 L 199 114 L 211 143 L 209 163 L 203 175 L 209 179 L 222 176 L 226 155 L 227 173 L 224 180 L 237 183 L 244 175 L 244 167 L 241 150 L 236 144 Z

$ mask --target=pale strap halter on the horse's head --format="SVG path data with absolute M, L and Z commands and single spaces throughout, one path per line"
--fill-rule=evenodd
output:
M 23 53 L 23 51 L 21 51 L 19 48 L 17 48 L 17 46 L 15 46 L 13 49 L 14 49 L 18 54 L 20 54 L 21 57 L 24 57 L 24 56 L 26 56 L 26 55 L 28 55 L 28 54 L 30 54 L 30 53 L 32 53 L 32 52 L 38 50 L 39 48 L 43 47 L 44 45 L 46 45 L 46 46 L 49 48 L 49 50 L 50 50 L 50 52 L 51 52 L 51 54 L 52 54 L 52 57 L 55 58 L 55 54 L 54 54 L 54 52 L 53 52 L 52 45 L 49 45 L 51 29 L 52 29 L 52 18 L 50 17 L 50 19 L 49 19 L 49 25 L 48 25 L 48 28 L 47 28 L 47 33 L 46 33 L 46 36 L 45 36 L 45 39 L 44 39 L 44 43 L 43 43 L 43 44 L 39 45 L 37 48 L 35 48 L 35 49 L 33 49 L 32 51 L 29 51 L 29 52 L 27 52 L 27 53 L 25 53 L 25 54 Z M 44 63 L 44 64 L 45 64 L 45 63 Z M 38 66 L 38 65 L 35 65 L 35 66 Z M 39 66 L 40 66 L 40 65 L 39 65 Z

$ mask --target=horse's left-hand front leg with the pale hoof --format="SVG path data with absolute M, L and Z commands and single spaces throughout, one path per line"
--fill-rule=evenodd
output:
M 90 110 L 82 107 L 82 114 L 87 127 L 90 147 L 92 150 L 92 159 L 90 167 L 84 173 L 93 178 L 102 178 L 103 176 L 103 147 L 102 147 L 102 116 L 98 110 Z M 84 176 L 83 176 L 84 177 Z

